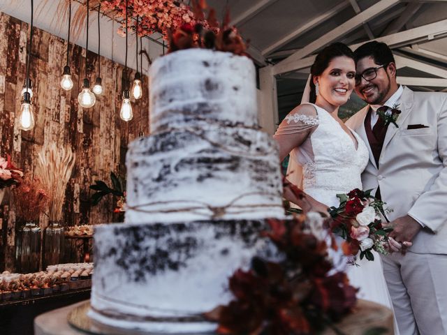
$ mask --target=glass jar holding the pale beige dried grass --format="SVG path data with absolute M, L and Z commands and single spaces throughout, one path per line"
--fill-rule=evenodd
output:
M 43 233 L 43 265 L 60 264 L 64 259 L 64 227 L 61 221 L 50 221 Z

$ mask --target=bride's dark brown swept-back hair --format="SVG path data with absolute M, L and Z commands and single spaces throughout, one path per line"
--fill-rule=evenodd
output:
M 314 84 L 314 77 L 316 75 L 321 75 L 326 68 L 328 68 L 330 61 L 335 57 L 346 56 L 351 59 L 354 59 L 354 53 L 349 47 L 344 43 L 332 43 L 325 47 L 321 52 L 318 52 L 316 55 L 314 64 L 312 64 L 310 68 L 310 73 L 312 77 L 310 78 L 310 96 L 309 102 L 315 103 L 316 101 L 316 91 Z

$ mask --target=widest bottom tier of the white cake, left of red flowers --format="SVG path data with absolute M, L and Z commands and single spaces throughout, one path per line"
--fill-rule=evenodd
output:
M 266 229 L 265 220 L 100 225 L 89 316 L 145 332 L 213 331 L 203 313 L 233 298 L 235 270 L 272 252 Z

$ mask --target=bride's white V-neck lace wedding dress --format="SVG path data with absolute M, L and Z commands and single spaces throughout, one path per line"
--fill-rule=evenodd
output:
M 319 202 L 338 207 L 337 194 L 348 193 L 354 188 L 362 189 L 360 175 L 365 170 L 369 153 L 365 142 L 355 132 L 351 131 L 357 143 L 327 111 L 317 105 L 314 107 L 314 115 L 289 114 L 288 126 L 281 126 L 277 131 L 280 134 L 293 133 L 297 128 L 312 128 L 307 140 L 291 151 L 288 180 L 301 186 Z M 358 258 L 358 267 L 348 265 L 348 259 L 341 251 L 332 251 L 330 255 L 335 267 L 346 271 L 351 285 L 360 289 L 358 298 L 393 309 L 383 277 L 381 257 L 375 251 L 373 253 L 374 261 Z

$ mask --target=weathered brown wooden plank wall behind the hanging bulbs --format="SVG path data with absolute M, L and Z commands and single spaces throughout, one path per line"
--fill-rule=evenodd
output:
M 66 65 L 66 40 L 34 29 L 31 46 L 30 77 L 33 81 L 36 126 L 20 131 L 17 116 L 20 112 L 21 91 L 25 77 L 29 24 L 0 13 L 0 155 L 10 154 L 13 162 L 24 172 L 33 173 L 38 153 L 51 143 L 68 145 L 76 153 L 76 163 L 66 190 L 64 223 L 66 225 L 98 224 L 117 221 L 112 211 L 112 196 L 105 197 L 92 207 L 89 185 L 95 180 L 110 184 L 110 172 L 124 169 L 127 144 L 140 130 L 149 133 L 149 97 L 133 103 L 133 120 L 119 118 L 122 100 L 124 66 L 100 57 L 104 93 L 96 97 L 90 109 L 78 105 L 78 94 L 85 73 L 85 49 L 71 45 L 70 64 L 73 89 L 60 87 Z M 135 57 L 132 52 L 129 57 Z M 97 75 L 98 56 L 87 54 L 91 86 Z M 129 78 L 133 79 L 134 71 Z M 147 84 L 146 76 L 142 76 Z M 15 269 L 15 212 L 14 202 L 3 200 L 0 206 L 0 271 Z M 5 205 L 5 202 L 7 203 Z M 41 229 L 47 218 L 39 220 Z

